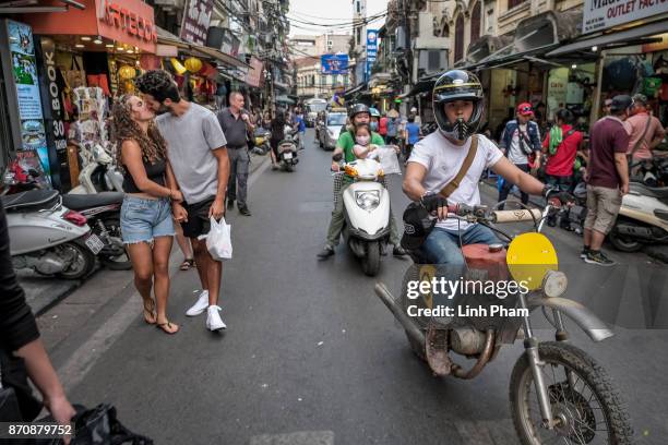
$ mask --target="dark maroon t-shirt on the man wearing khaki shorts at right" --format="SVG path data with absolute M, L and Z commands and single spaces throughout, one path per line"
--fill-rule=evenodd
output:
M 619 189 L 620 178 L 615 165 L 616 153 L 627 153 L 629 133 L 615 117 L 599 119 L 589 132 L 589 185 Z

